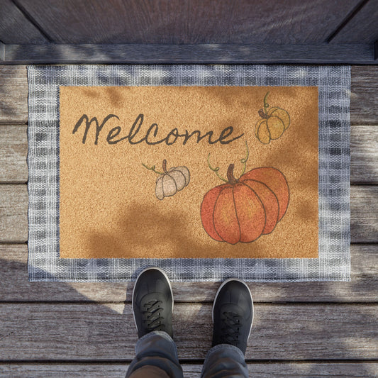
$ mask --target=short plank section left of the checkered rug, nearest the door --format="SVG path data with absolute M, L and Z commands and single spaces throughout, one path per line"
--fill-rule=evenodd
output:
M 28 122 L 25 66 L 0 66 L 0 123 Z

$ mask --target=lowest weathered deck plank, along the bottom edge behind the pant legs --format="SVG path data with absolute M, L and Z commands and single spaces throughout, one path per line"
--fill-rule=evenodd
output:
M 0 375 L 18 378 L 124 378 L 128 363 L 25 363 L 0 364 Z M 184 377 L 198 378 L 202 365 L 183 364 Z M 377 362 L 248 362 L 248 372 L 253 378 L 290 377 L 290 378 L 376 378 Z

